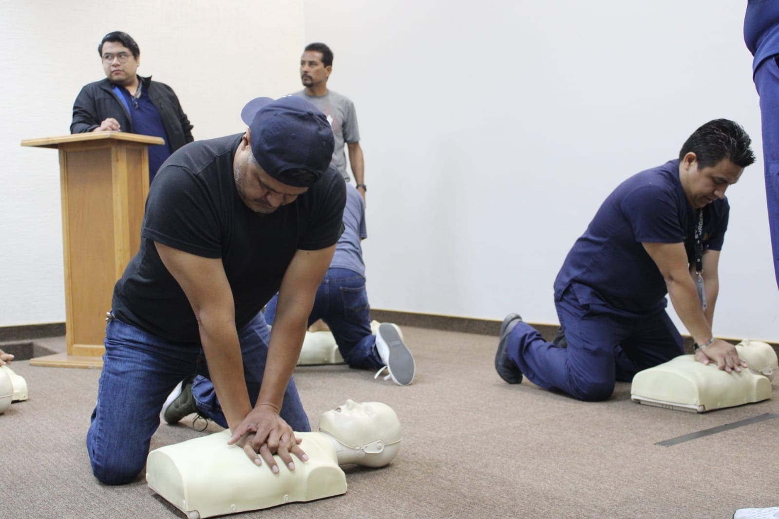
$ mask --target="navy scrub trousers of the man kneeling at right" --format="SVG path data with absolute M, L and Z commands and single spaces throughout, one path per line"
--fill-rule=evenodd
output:
M 647 317 L 626 317 L 580 303 L 575 286 L 556 302 L 567 348 L 546 342 L 520 322 L 509 334 L 506 351 L 520 371 L 539 387 L 580 400 L 605 400 L 615 380 L 629 382 L 640 370 L 684 353 L 682 336 L 665 310 Z

